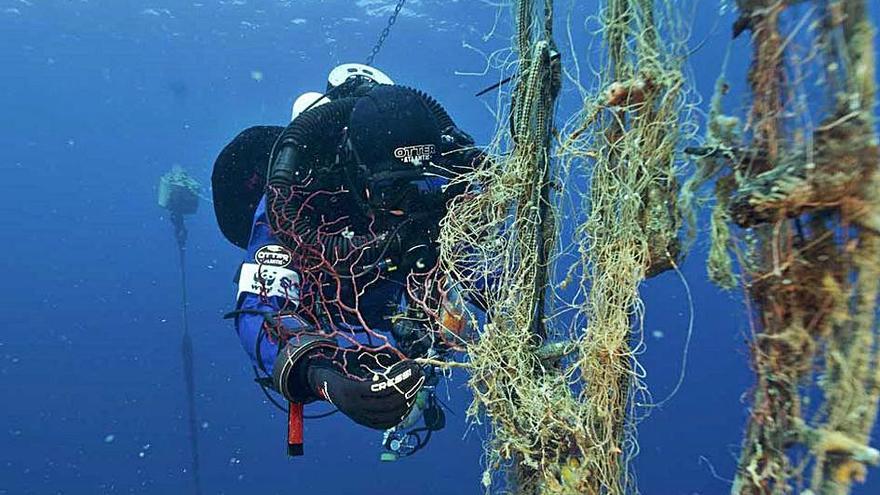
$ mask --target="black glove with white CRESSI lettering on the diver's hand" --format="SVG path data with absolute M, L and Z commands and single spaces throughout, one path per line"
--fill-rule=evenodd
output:
M 355 423 L 377 430 L 391 428 L 409 414 L 425 381 L 419 365 L 387 352 L 349 352 L 345 359 L 326 352 L 309 357 L 309 389 Z

